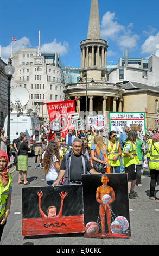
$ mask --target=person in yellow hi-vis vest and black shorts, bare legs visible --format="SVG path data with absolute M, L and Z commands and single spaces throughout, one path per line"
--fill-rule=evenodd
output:
M 129 199 L 135 199 L 136 197 L 138 197 L 137 193 L 134 191 L 137 178 L 136 164 L 139 164 L 138 155 L 136 151 L 136 138 L 137 132 L 135 130 L 131 130 L 129 132 L 122 153 L 122 161 L 125 167 L 125 173 L 128 173 Z

